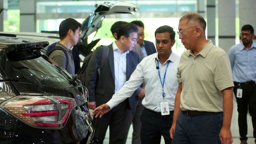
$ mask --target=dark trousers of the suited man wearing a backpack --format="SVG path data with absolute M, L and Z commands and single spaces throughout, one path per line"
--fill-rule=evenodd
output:
M 95 125 L 95 135 L 100 144 L 103 144 L 106 131 L 109 126 L 109 144 L 124 144 L 126 142 L 124 129 L 125 123 L 126 100 L 115 106 L 112 110 L 104 114 L 101 118 L 93 119 Z

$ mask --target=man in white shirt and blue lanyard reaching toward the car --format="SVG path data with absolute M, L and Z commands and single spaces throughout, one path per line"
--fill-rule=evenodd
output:
M 172 52 L 175 43 L 172 27 L 159 27 L 156 29 L 155 38 L 157 53 L 145 57 L 120 91 L 114 94 L 107 104 L 96 108 L 92 116 L 101 117 L 130 97 L 145 82 L 145 98 L 142 100 L 145 108 L 140 117 L 141 144 L 160 144 L 161 136 L 164 137 L 165 144 L 170 144 L 172 139 L 169 130 L 172 126 L 174 100 L 178 89 L 176 73 L 180 56 Z M 164 108 L 167 113 L 163 112 Z

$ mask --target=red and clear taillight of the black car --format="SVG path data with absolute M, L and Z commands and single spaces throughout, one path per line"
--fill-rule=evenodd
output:
M 16 96 L 0 107 L 32 127 L 61 129 L 76 107 L 76 100 L 62 96 Z

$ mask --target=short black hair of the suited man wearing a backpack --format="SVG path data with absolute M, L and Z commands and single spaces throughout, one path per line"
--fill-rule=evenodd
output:
M 139 29 L 138 26 L 132 23 L 125 23 L 120 26 L 120 28 L 117 31 L 117 40 L 120 39 L 121 36 L 124 36 L 126 38 L 129 38 L 133 32 L 138 33 Z

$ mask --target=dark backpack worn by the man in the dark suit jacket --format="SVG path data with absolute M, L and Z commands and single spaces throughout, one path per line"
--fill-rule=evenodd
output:
M 100 59 L 100 66 L 97 69 L 99 76 L 100 76 L 100 69 L 104 66 L 105 62 L 107 61 L 108 51 L 109 51 L 108 46 L 103 46 L 103 53 Z M 92 57 L 92 54 L 93 53 L 89 54 L 84 58 L 82 68 L 78 71 L 77 79 L 80 80 L 84 86 L 85 86 L 85 79 L 86 79 L 86 70 L 87 70 L 88 63 Z

